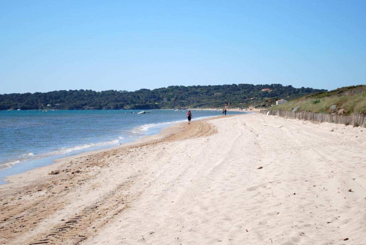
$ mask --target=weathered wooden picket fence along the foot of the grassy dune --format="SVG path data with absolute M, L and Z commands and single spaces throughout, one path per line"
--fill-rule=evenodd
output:
M 286 112 L 284 110 L 261 110 L 262 114 L 267 114 L 280 117 L 296 118 L 300 120 L 309 120 L 315 122 L 331 122 L 345 125 L 366 126 L 365 114 L 352 114 L 351 116 L 343 116 L 337 114 L 323 114 L 314 112 Z

